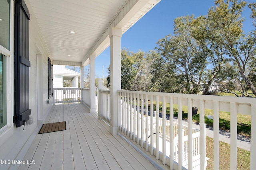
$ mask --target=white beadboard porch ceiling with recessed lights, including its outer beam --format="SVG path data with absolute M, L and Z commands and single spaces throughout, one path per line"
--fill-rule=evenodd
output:
M 109 46 L 110 27 L 122 28 L 124 33 L 158 2 L 30 0 L 52 60 L 82 64 L 91 54 L 97 56 Z

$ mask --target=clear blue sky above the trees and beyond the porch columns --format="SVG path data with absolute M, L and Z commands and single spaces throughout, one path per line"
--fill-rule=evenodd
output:
M 246 2 L 256 2 L 247 0 Z M 214 0 L 161 0 L 152 10 L 135 23 L 121 38 L 121 48 L 137 52 L 154 50 L 159 39 L 173 33 L 173 21 L 179 16 L 194 14 L 195 17 L 206 15 L 208 9 L 214 6 Z M 243 12 L 246 18 L 244 31 L 253 29 L 250 10 L 246 7 Z M 102 52 L 95 60 L 96 77 L 102 78 L 102 66 L 104 77 L 108 76 L 110 64 L 110 47 Z

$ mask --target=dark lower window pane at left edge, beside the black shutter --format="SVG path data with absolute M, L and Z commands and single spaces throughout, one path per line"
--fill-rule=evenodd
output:
M 6 76 L 5 76 L 5 56 L 0 53 L 0 128 L 6 125 Z

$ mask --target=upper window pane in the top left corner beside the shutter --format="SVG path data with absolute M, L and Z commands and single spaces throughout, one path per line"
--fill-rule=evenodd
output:
M 0 0 L 0 45 L 10 50 L 10 0 Z

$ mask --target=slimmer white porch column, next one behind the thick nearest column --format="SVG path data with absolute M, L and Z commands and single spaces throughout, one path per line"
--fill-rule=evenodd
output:
M 90 55 L 90 113 L 96 112 L 95 106 L 95 58 L 96 55 Z

